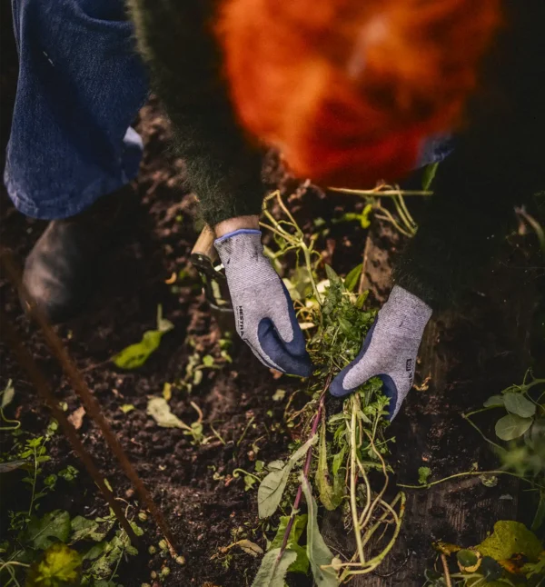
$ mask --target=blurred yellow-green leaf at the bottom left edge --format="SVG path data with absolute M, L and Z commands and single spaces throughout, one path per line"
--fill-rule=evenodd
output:
M 65 544 L 52 544 L 32 565 L 26 587 L 71 587 L 80 584 L 82 559 Z

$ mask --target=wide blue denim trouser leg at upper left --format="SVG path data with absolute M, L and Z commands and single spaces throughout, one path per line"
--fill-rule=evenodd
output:
M 5 185 L 36 218 L 82 212 L 138 172 L 148 85 L 123 0 L 12 0 L 19 79 Z

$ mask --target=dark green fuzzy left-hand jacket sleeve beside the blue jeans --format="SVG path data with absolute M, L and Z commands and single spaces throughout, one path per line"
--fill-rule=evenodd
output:
M 213 30 L 213 0 L 128 0 L 152 85 L 204 220 L 260 214 L 263 153 L 233 113 Z

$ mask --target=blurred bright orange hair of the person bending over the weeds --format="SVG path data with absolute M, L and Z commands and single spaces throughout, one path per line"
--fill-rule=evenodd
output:
M 218 24 L 243 124 L 299 175 L 395 179 L 461 124 L 500 0 L 225 0 Z

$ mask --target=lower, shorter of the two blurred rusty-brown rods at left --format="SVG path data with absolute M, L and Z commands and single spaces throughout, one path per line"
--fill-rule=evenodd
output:
M 121 524 L 127 536 L 136 544 L 138 539 L 134 533 L 131 524 L 127 520 L 123 509 L 119 506 L 119 503 L 115 501 L 114 494 L 108 489 L 104 482 L 103 475 L 96 468 L 93 459 L 84 449 L 84 445 L 80 441 L 78 435 L 75 433 L 74 426 L 68 422 L 68 419 L 64 415 L 64 412 L 59 408 L 58 402 L 54 399 L 54 394 L 51 392 L 51 388 L 45 380 L 44 374 L 39 370 L 35 363 L 32 355 L 26 350 L 19 333 L 15 331 L 15 328 L 7 320 L 5 313 L 0 312 L 0 332 L 4 334 L 5 340 L 8 346 L 15 354 L 18 363 L 28 373 L 30 380 L 35 386 L 37 392 L 42 396 L 45 404 L 49 407 L 55 420 L 62 426 L 64 434 L 72 444 L 74 452 L 79 456 L 85 468 L 93 478 L 94 483 L 98 486 L 99 490 L 103 493 L 104 499 L 108 502 L 108 505 L 112 508 L 115 517 Z

